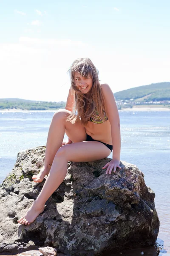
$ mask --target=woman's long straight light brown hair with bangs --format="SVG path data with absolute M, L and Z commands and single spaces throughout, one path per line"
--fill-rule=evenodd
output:
M 93 85 L 88 95 L 83 94 L 76 86 L 74 72 L 77 71 L 81 76 L 91 76 Z M 68 70 L 71 78 L 71 87 L 75 93 L 75 112 L 68 117 L 68 121 L 75 123 L 79 118 L 83 125 L 86 125 L 95 110 L 104 121 L 105 100 L 99 82 L 99 72 L 89 58 L 78 58 Z M 77 115 L 76 115 L 77 111 Z

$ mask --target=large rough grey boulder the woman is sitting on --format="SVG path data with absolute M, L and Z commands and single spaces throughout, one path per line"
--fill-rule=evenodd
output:
M 0 253 L 52 246 L 75 256 L 111 255 L 153 245 L 159 231 L 154 192 L 139 169 L 121 162 L 106 175 L 109 158 L 68 163 L 64 182 L 30 226 L 17 224 L 40 193 L 31 179 L 43 165 L 45 147 L 18 153 L 14 169 L 0 186 Z

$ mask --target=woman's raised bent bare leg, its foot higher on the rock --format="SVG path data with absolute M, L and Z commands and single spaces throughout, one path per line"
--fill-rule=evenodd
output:
M 34 180 L 34 182 L 42 182 L 45 175 L 48 175 L 48 173 L 50 172 L 54 156 L 62 145 L 65 130 L 67 130 L 69 135 L 71 135 L 70 139 L 72 141 L 77 142 L 85 140 L 86 133 L 83 125 L 81 125 L 80 122 L 77 122 L 76 124 L 71 124 L 70 122 L 66 121 L 66 118 L 70 114 L 71 111 L 67 111 L 65 109 L 60 109 L 54 114 L 48 131 L 44 166 L 42 167 L 38 175 L 33 175 L 32 179 Z

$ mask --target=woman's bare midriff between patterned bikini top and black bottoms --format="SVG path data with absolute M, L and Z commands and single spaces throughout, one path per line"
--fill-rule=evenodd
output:
M 88 121 L 88 124 L 85 125 L 85 131 L 94 140 L 99 140 L 112 145 L 111 124 L 109 120 L 103 122 L 102 124 L 95 124 Z

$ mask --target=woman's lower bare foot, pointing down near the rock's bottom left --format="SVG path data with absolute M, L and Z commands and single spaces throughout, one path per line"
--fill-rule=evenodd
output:
M 18 220 L 18 223 L 23 225 L 30 225 L 44 210 L 43 207 L 38 207 L 36 201 L 31 205 L 26 214 Z

